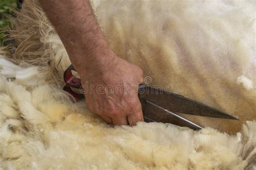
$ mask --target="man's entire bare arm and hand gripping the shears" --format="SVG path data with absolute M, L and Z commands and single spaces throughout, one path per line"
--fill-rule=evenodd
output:
M 39 2 L 82 79 L 89 110 L 114 125 L 135 125 L 142 121 L 138 84 L 143 83 L 143 72 L 110 50 L 90 1 Z M 117 90 L 118 86 L 127 93 Z M 103 93 L 96 87 L 102 87 Z M 114 92 L 107 92 L 106 87 L 112 87 Z

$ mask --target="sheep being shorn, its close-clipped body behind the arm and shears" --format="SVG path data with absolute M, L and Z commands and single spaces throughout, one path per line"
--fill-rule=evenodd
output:
M 11 30 L 19 44 L 12 59 L 39 66 L 46 81 L 63 86 L 70 65 L 64 46 L 40 7 L 26 10 L 26 5 L 31 4 L 24 4 Z M 169 87 L 240 121 L 183 117 L 232 134 L 256 119 L 254 1 L 92 1 L 92 6 L 111 49 L 142 67 L 149 85 Z

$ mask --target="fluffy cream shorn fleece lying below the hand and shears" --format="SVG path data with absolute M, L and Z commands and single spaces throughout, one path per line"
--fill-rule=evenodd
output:
M 171 124 L 111 127 L 49 85 L 0 78 L 0 168 L 253 169 L 256 122 L 241 133 Z

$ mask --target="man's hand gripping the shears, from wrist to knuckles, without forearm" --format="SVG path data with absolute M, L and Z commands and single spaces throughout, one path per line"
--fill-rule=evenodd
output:
M 108 52 L 111 62 L 80 72 L 87 108 L 113 125 L 136 125 L 143 121 L 138 85 L 143 83 L 139 66 Z

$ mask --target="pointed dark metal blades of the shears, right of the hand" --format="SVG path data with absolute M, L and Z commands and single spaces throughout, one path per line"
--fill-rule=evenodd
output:
M 173 119 L 178 119 L 182 125 L 199 130 L 203 127 L 176 113 L 238 120 L 233 115 L 221 112 L 216 108 L 156 87 L 140 85 L 139 98 L 142 103 L 144 118 L 147 121 L 173 123 Z

